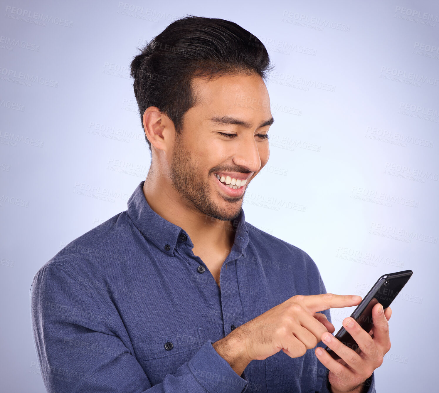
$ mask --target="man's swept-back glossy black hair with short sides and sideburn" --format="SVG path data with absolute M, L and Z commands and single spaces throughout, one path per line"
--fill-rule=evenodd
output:
M 194 77 L 258 74 L 266 81 L 273 68 L 263 43 L 234 22 L 188 15 L 172 22 L 131 61 L 134 94 L 143 114 L 156 106 L 183 129 L 183 116 L 197 105 L 191 89 Z M 151 143 L 145 134 L 151 151 Z

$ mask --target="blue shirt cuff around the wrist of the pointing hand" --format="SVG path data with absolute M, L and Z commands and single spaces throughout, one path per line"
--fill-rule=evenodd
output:
M 216 352 L 213 341 L 208 339 L 189 361 L 189 368 L 195 379 L 212 393 L 243 393 L 248 380 L 243 371 L 241 377 L 230 364 Z

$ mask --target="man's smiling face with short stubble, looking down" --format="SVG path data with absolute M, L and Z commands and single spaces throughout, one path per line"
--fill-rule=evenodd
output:
M 272 119 L 268 91 L 258 75 L 197 78 L 193 88 L 201 102 L 185 113 L 181 136 L 176 134 L 171 179 L 200 212 L 234 220 L 270 155 L 264 137 Z

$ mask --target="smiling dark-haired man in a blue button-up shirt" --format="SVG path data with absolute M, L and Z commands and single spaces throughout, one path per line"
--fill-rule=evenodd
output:
M 361 298 L 326 294 L 306 252 L 245 222 L 269 158 L 269 69 L 247 30 L 194 16 L 133 59 L 151 167 L 126 211 L 34 278 L 48 392 L 375 392 L 390 308 L 374 307 L 371 332 L 346 327 L 360 353 L 329 334 L 342 360 L 320 354 L 329 309 Z

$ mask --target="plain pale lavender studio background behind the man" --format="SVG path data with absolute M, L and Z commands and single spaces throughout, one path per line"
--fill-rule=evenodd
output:
M 1 1 L 2 391 L 45 391 L 32 278 L 145 179 L 129 64 L 187 14 L 240 24 L 276 65 L 270 160 L 246 191 L 248 222 L 308 252 L 328 292 L 364 296 L 381 274 L 413 270 L 391 306 L 377 391 L 437 386 L 438 2 L 221 3 Z M 336 331 L 354 308 L 331 310 Z

